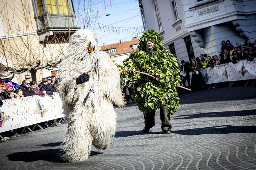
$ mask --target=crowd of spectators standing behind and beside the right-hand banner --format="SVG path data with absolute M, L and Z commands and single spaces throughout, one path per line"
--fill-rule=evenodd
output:
M 208 56 L 207 54 L 200 54 L 192 63 L 181 60 L 181 85 L 184 87 L 191 87 L 192 90 L 200 89 L 204 86 L 203 76 L 200 72 L 201 68 L 213 68 L 216 65 L 226 64 L 229 62 L 237 63 L 239 60 L 252 61 L 256 57 L 256 40 L 251 43 L 249 39 L 244 41 L 241 45 L 237 43 L 233 46 L 229 40 L 221 42 L 221 51 L 219 56 Z M 189 72 L 192 72 L 191 83 Z M 186 85 L 186 82 L 188 86 Z

